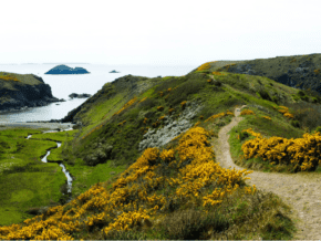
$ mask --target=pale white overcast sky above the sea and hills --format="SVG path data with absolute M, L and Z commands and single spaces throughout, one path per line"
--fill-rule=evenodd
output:
M 0 64 L 200 65 L 321 53 L 321 0 L 3 0 Z

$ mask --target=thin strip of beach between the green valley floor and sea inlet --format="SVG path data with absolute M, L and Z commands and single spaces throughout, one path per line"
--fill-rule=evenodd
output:
M 74 124 L 71 123 L 4 123 L 0 122 L 0 130 L 9 129 L 9 128 L 48 128 L 48 129 L 69 129 L 72 128 Z

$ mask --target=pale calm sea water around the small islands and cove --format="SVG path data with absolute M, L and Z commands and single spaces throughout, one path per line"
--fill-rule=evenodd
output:
M 64 64 L 64 63 L 61 63 Z M 103 64 L 65 64 L 70 67 L 84 67 L 90 74 L 79 75 L 46 75 L 44 74 L 52 67 L 59 64 L 12 64 L 0 65 L 0 72 L 11 72 L 18 74 L 35 74 L 51 86 L 51 92 L 54 97 L 64 98 L 66 102 L 51 103 L 48 106 L 33 107 L 19 112 L 0 114 L 0 122 L 34 122 L 50 120 L 63 118 L 70 111 L 80 106 L 86 98 L 70 99 L 71 93 L 92 94 L 94 95 L 107 82 L 113 82 L 115 78 L 132 74 L 146 77 L 161 76 L 180 76 L 189 73 L 195 67 L 194 65 L 177 65 L 177 66 L 130 66 L 130 65 L 103 65 Z M 121 73 L 108 73 L 110 71 Z M 59 105 L 56 105 L 59 104 Z

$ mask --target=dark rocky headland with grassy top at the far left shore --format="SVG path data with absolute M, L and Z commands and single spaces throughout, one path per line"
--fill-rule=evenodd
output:
M 62 99 L 61 99 L 62 101 Z M 44 106 L 60 102 L 52 96 L 51 87 L 34 74 L 0 72 L 0 111 Z

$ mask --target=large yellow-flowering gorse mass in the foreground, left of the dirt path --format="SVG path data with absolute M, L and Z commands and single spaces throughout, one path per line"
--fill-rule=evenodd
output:
M 182 137 L 180 137 L 182 136 Z M 121 177 L 106 189 L 101 182 L 80 195 L 65 206 L 58 206 L 44 214 L 25 220 L 21 224 L 0 227 L 0 239 L 73 240 L 72 234 L 80 230 L 101 227 L 102 234 L 115 230 L 131 230 L 142 220 L 156 219 L 168 209 L 169 200 L 182 203 L 201 203 L 207 212 L 224 201 L 224 197 L 240 189 L 244 175 L 252 171 L 229 170 L 215 163 L 209 145 L 210 133 L 201 127 L 193 127 L 179 135 L 176 148 L 147 148 Z M 178 157 L 176 159 L 176 157 Z M 162 161 L 178 170 L 175 178 L 158 176 Z M 187 165 L 183 165 L 189 161 Z M 168 196 L 154 190 L 164 185 L 175 189 Z M 209 186 L 216 186 L 208 191 Z M 244 188 L 244 193 L 253 193 L 256 187 Z

